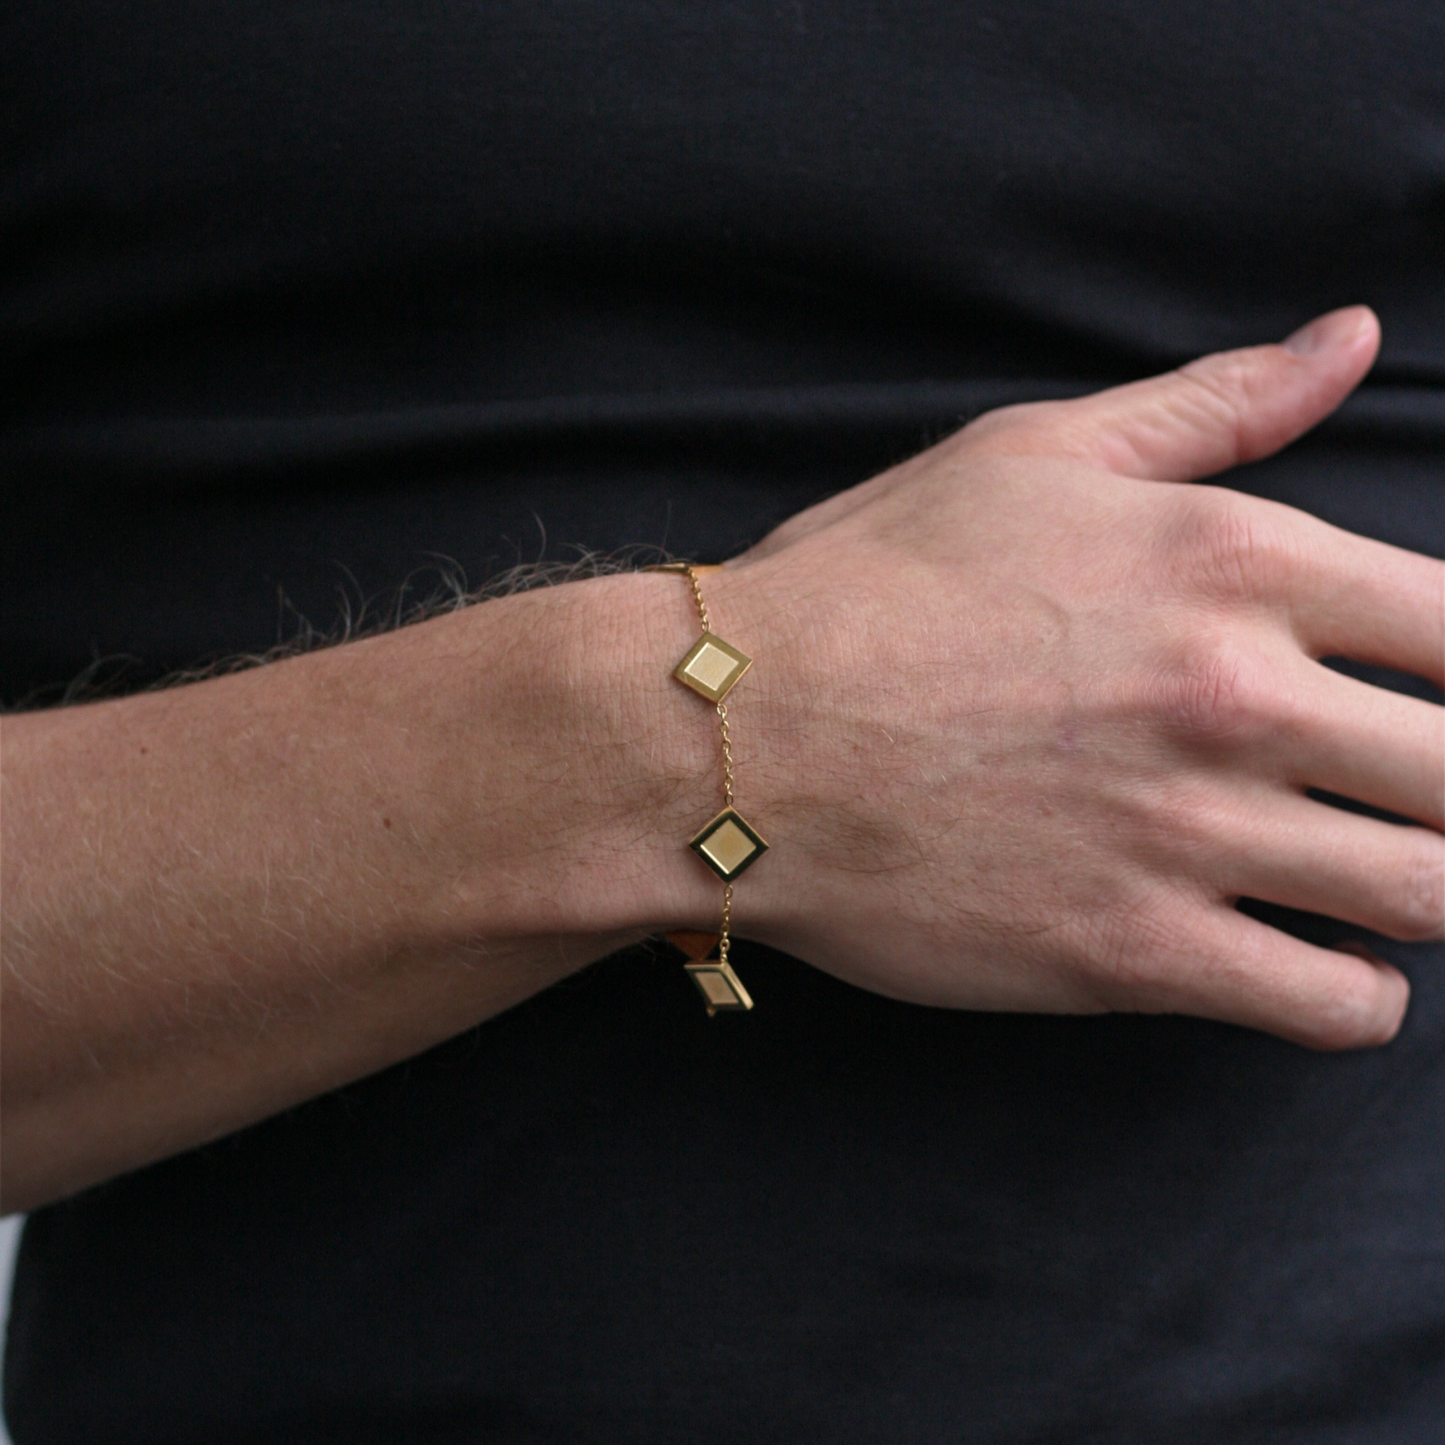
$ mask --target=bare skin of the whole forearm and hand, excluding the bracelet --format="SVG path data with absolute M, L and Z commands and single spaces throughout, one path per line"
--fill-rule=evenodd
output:
M 1445 566 L 1196 478 L 1368 370 L 1283 347 L 990 413 L 707 579 L 754 659 L 736 926 L 925 1004 L 1183 1012 L 1383 1043 L 1403 975 L 1241 896 L 1445 935 Z M 676 577 L 487 603 L 3 736 L 4 1208 L 431 1046 L 663 929 L 715 728 Z M 1374 803 L 1413 825 L 1311 801 Z

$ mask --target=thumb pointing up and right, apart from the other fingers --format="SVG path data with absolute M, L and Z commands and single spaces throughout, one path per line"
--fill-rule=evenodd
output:
M 1360 384 L 1379 350 L 1374 312 L 1345 306 L 1279 345 L 1218 351 L 1077 402 L 991 412 L 964 438 L 991 452 L 1071 457 L 1124 477 L 1192 481 L 1269 457 L 1308 432 Z

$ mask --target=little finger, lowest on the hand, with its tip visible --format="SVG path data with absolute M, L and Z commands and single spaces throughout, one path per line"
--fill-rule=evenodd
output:
M 1189 1013 L 1292 1039 L 1312 1049 L 1363 1049 L 1399 1032 L 1410 1000 L 1389 964 L 1316 948 L 1233 907 L 1194 920 L 1194 949 L 1160 959 L 1157 1012 Z

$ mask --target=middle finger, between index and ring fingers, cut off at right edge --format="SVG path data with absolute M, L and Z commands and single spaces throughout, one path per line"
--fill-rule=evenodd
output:
M 1445 708 L 1312 670 L 1289 780 L 1445 831 Z

